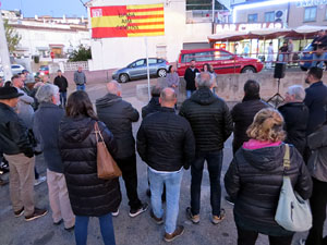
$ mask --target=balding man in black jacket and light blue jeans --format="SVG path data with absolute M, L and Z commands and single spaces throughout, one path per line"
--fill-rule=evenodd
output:
M 159 101 L 161 110 L 146 117 L 137 132 L 137 151 L 148 164 L 153 207 L 150 216 L 158 224 L 164 223 L 161 194 L 166 185 L 167 215 L 164 238 L 171 242 L 184 232 L 182 225 L 177 226 L 182 168 L 190 168 L 195 144 L 187 120 L 174 113 L 174 90 L 165 88 Z

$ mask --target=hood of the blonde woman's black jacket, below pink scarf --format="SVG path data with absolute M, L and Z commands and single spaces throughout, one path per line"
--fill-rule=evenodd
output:
M 280 166 L 280 161 L 284 155 L 284 144 L 272 147 L 264 147 L 261 149 L 244 149 L 243 156 L 245 160 L 253 167 L 263 171 L 271 171 Z

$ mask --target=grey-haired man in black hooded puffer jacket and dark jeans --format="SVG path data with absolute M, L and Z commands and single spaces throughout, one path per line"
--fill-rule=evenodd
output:
M 222 148 L 233 125 L 226 102 L 211 91 L 214 79 L 210 73 L 201 73 L 196 85 L 197 90 L 180 110 L 180 115 L 191 123 L 196 143 L 195 160 L 191 164 L 191 208 L 186 212 L 193 223 L 199 222 L 201 182 L 206 160 L 210 177 L 211 222 L 217 224 L 225 218 L 220 211 Z

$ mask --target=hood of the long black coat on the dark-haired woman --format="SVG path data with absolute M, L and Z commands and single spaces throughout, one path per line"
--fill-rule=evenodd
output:
M 94 120 L 86 117 L 64 118 L 60 123 L 60 134 L 69 143 L 83 142 L 93 131 Z

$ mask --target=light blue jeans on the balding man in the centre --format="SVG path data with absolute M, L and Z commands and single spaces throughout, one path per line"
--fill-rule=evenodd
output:
M 152 191 L 152 206 L 157 218 L 164 217 L 161 194 L 166 185 L 166 233 L 173 233 L 179 216 L 180 189 L 183 177 L 183 170 L 178 172 L 154 172 L 148 169 L 148 176 Z

